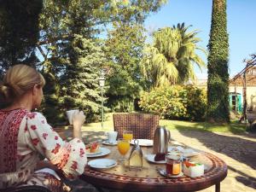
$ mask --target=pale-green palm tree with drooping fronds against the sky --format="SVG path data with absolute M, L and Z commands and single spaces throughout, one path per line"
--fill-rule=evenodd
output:
M 205 67 L 201 57 L 195 53 L 205 49 L 197 45 L 197 30 L 187 32 L 190 26 L 177 24 L 154 32 L 154 44 L 144 49 L 142 72 L 153 87 L 166 84 L 183 84 L 189 79 L 195 80 L 194 64 Z

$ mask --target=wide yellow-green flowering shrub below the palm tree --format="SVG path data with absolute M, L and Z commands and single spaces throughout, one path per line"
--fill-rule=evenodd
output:
M 206 91 L 194 86 L 173 85 L 143 92 L 140 108 L 157 113 L 161 119 L 204 119 L 207 108 Z

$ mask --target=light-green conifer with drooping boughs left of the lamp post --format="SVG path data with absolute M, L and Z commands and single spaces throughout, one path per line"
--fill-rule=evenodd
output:
M 86 120 L 97 118 L 101 109 L 98 84 L 99 72 L 105 62 L 102 46 L 96 39 L 74 35 L 69 44 L 69 62 L 61 75 L 61 108 L 79 108 L 86 114 Z

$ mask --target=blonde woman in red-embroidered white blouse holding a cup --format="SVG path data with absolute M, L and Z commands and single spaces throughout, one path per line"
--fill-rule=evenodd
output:
M 36 171 L 42 158 L 68 178 L 84 172 L 87 159 L 80 140 L 84 113 L 74 115 L 75 138 L 64 142 L 43 114 L 32 112 L 41 104 L 44 84 L 44 77 L 26 65 L 9 68 L 0 83 L 0 106 L 5 106 L 0 110 L 0 189 L 41 185 L 62 191 L 62 181 L 53 170 Z

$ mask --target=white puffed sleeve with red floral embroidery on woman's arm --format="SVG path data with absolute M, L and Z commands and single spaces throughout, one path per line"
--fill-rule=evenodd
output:
M 73 178 L 84 172 L 87 158 L 81 140 L 74 138 L 69 143 L 63 141 L 41 113 L 28 113 L 26 119 L 26 131 L 29 133 L 27 144 L 30 148 L 44 155 L 67 177 Z

